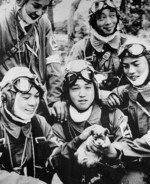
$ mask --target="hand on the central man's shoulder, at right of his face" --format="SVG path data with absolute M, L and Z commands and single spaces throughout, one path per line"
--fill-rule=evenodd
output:
M 121 105 L 122 100 L 115 93 L 111 93 L 107 98 L 107 105 L 111 108 Z

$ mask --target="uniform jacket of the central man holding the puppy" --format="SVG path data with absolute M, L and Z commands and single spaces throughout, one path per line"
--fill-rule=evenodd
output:
M 53 155 L 54 165 L 57 168 L 56 171 L 65 184 L 83 182 L 82 176 L 85 174 L 86 169 L 77 164 L 74 153 L 81 144 L 78 136 L 86 127 L 93 124 L 100 124 L 107 127 L 113 136 L 112 141 L 115 141 L 114 145 L 116 149 L 119 150 L 122 149 L 121 147 L 125 143 L 125 139 L 131 138 L 128 132 L 127 118 L 120 110 L 117 109 L 110 112 L 109 115 L 107 110 L 104 113 L 105 119 L 102 120 L 102 109 L 98 105 L 94 105 L 92 113 L 86 122 L 76 124 L 69 118 L 68 122 L 53 125 L 54 134 L 64 143 L 64 147 L 66 147 L 65 151 L 59 148 Z M 90 172 L 93 171 L 88 171 L 89 175 Z

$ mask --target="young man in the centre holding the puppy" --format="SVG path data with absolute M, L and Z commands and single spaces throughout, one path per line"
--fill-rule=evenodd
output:
M 99 183 L 116 184 L 123 174 L 117 158 L 119 158 L 121 147 L 125 141 L 131 138 L 127 118 L 119 109 L 110 111 L 99 106 L 98 95 L 98 86 L 92 65 L 85 60 L 69 62 L 66 66 L 64 81 L 64 98 L 68 102 L 68 121 L 53 125 L 54 134 L 66 148 L 66 150 L 58 148 L 52 159 L 56 172 L 64 184 L 90 183 L 97 176 L 100 176 L 98 177 Z M 95 130 L 100 127 L 100 132 L 107 128 L 112 135 L 111 141 L 114 142 L 111 144 L 109 137 L 106 136 L 104 148 L 89 143 L 92 150 L 98 152 L 99 158 L 102 159 L 96 163 L 96 167 L 88 168 L 88 161 L 92 158 L 87 159 L 86 154 L 83 162 L 77 163 L 77 158 L 80 160 L 82 156 L 80 155 L 82 153 L 77 151 L 80 146 L 77 141 L 84 129 L 86 130 L 92 125 L 95 126 Z M 77 158 L 76 151 L 79 153 Z M 116 168 L 119 169 L 115 170 L 110 163 L 116 164 Z

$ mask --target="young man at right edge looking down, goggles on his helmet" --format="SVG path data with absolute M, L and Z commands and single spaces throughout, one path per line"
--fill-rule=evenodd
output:
M 108 97 L 110 107 L 120 107 L 129 117 L 134 141 L 125 146 L 123 155 L 127 175 L 122 183 L 150 182 L 150 47 L 149 43 L 130 37 L 120 48 L 124 75 L 129 85 L 119 86 Z

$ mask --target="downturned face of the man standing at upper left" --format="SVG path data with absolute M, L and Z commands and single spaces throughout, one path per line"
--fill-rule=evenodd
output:
M 40 18 L 47 10 L 50 0 L 29 0 L 26 6 L 26 12 L 32 20 Z

